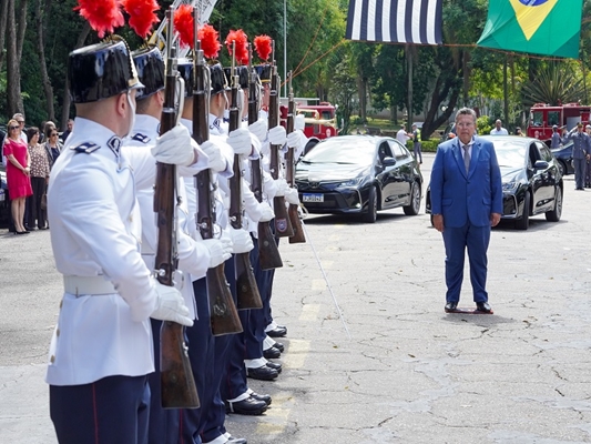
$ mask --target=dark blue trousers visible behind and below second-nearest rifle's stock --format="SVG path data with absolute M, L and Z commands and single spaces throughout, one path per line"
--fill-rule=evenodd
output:
M 224 265 L 224 273 L 226 275 L 234 304 L 236 304 L 236 268 L 234 264 L 234 256 L 230 258 Z M 214 391 L 212 404 L 208 412 L 205 412 L 206 418 L 201 433 L 201 440 L 204 443 L 215 440 L 222 435 L 222 428 L 226 420 L 226 407 L 220 394 L 220 386 L 222 381 L 226 377 L 226 370 L 230 360 L 230 344 L 234 339 L 234 334 L 225 334 L 214 337 L 214 364 L 213 377 L 208 382 L 210 389 Z

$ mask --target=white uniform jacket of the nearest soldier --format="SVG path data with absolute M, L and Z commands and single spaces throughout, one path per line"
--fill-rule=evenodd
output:
M 147 320 L 156 293 L 132 229 L 136 189 L 152 186 L 154 163 L 146 150 L 132 168 L 120 148 L 111 130 L 77 118 L 51 172 L 48 216 L 58 271 L 114 286 L 100 295 L 64 293 L 45 377 L 52 385 L 154 371 Z

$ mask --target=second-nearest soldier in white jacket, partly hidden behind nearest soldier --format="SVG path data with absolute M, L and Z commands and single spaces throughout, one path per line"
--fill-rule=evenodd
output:
M 137 70 L 140 81 L 144 84 L 137 90 L 137 112 L 135 125 L 124 150 L 133 150 L 140 147 L 143 150 L 150 147 L 159 137 L 160 117 L 164 104 L 164 61 L 159 49 L 155 47 L 143 48 L 133 52 L 133 61 Z M 191 85 L 185 85 L 191 88 Z M 198 169 L 195 165 L 191 168 L 179 168 L 179 174 L 185 175 L 193 180 L 193 175 L 202 169 L 207 168 L 208 159 L 204 155 L 204 162 Z M 205 276 L 208 268 L 220 265 L 232 255 L 232 244 L 230 239 L 208 239 L 195 241 L 190 233 L 195 232 L 195 224 L 190 224 L 187 199 L 185 193 L 184 181 L 180 181 L 177 195 L 180 204 L 177 205 L 179 232 L 179 269 L 182 274 L 181 293 L 190 309 L 188 317 L 198 322 L 195 297 L 193 293 L 193 279 Z M 142 213 L 142 259 L 150 270 L 154 269 L 154 259 L 157 242 L 157 229 L 153 210 L 154 190 L 141 190 L 137 192 L 137 202 Z M 202 295 L 203 296 L 203 295 Z M 207 305 L 204 301 L 202 306 Z M 205 313 L 201 313 L 207 319 Z M 174 408 L 162 408 L 161 404 L 161 385 L 160 385 L 160 329 L 162 321 L 151 320 L 152 334 L 154 339 L 154 359 L 155 373 L 149 377 L 150 390 L 152 393 L 150 406 L 150 427 L 149 444 L 176 444 L 179 440 L 180 412 Z M 200 393 L 201 395 L 201 393 Z

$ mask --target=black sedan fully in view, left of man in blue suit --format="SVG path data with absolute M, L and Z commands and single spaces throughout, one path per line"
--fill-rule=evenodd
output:
M 318 143 L 297 163 L 299 200 L 310 213 L 360 214 L 375 222 L 379 210 L 419 212 L 422 175 L 397 140 L 343 135 Z

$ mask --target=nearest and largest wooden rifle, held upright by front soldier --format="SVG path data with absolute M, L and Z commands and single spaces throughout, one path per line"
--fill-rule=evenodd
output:
M 169 23 L 173 22 L 172 8 L 167 11 Z M 167 46 L 164 108 L 160 134 L 172 130 L 176 124 L 175 89 L 176 61 L 171 41 Z M 163 285 L 173 286 L 173 276 L 177 265 L 176 254 L 176 165 L 156 163 L 156 186 L 154 192 L 154 212 L 157 214 L 157 248 L 155 272 L 157 281 Z M 197 408 L 200 400 L 187 346 L 184 341 L 184 326 L 175 322 L 164 321 L 160 333 L 160 379 L 163 408 Z

